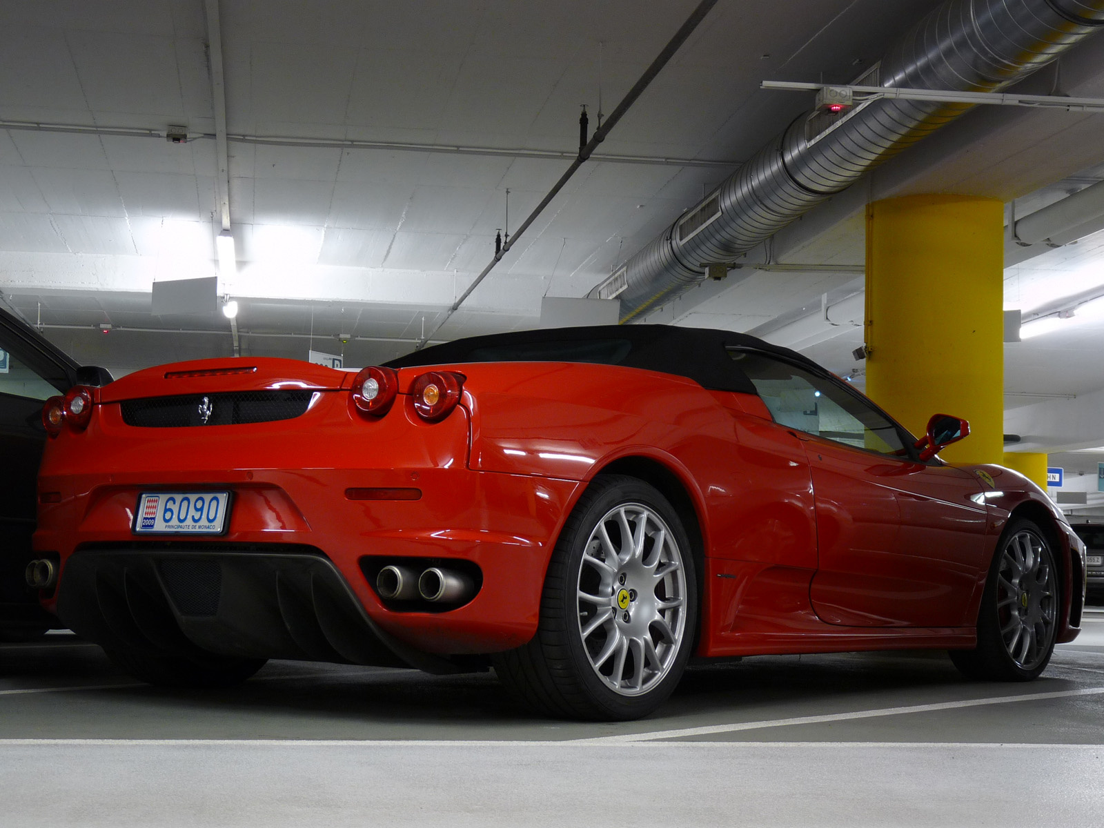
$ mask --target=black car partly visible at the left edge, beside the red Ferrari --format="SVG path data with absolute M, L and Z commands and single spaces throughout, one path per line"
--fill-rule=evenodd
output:
M 26 585 L 35 478 L 46 432 L 42 405 L 75 384 L 104 385 L 102 368 L 81 368 L 36 330 L 0 309 L 0 641 L 30 640 L 57 618 Z

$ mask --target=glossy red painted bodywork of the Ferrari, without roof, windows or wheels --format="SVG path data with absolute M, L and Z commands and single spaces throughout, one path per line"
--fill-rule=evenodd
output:
M 256 371 L 164 376 L 235 367 Z M 443 368 L 466 380 L 460 407 L 437 423 L 422 421 L 407 396 L 426 369 L 400 371 L 400 396 L 378 418 L 350 406 L 352 374 L 290 360 L 126 376 L 98 394 L 86 431 L 50 440 L 40 492 L 61 500 L 40 505 L 35 549 L 60 554 L 64 583 L 79 546 L 135 540 L 140 492 L 230 489 L 229 533 L 206 543 L 306 544 L 403 641 L 445 655 L 499 651 L 532 637 L 556 538 L 587 481 L 611 463 L 647 458 L 692 505 L 703 556 L 698 652 L 722 656 L 970 646 L 1008 514 L 1029 501 L 1055 514 L 1012 473 L 990 469 L 1007 488 L 996 497 L 972 471 L 851 449 L 858 457 L 845 457 L 838 444 L 775 424 L 757 396 L 684 378 L 578 363 Z M 250 425 L 135 427 L 118 405 L 285 388 L 316 391 L 308 411 Z M 346 497 L 373 487 L 422 496 Z M 466 559 L 482 586 L 456 609 L 395 612 L 368 583 L 364 555 Z

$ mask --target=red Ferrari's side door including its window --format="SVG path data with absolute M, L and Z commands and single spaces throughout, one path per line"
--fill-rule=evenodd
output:
M 957 626 L 985 549 L 968 475 L 916 459 L 911 435 L 827 373 L 747 352 L 740 368 L 802 436 L 818 565 L 810 599 L 843 626 Z

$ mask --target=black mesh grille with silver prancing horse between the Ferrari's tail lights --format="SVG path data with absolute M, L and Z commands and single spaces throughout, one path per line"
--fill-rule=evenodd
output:
M 144 428 L 242 425 L 291 420 L 310 407 L 317 391 L 238 391 L 126 400 L 123 422 Z

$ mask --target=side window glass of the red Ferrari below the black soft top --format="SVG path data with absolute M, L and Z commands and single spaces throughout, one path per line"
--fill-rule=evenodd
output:
M 847 389 L 754 351 L 730 351 L 776 423 L 868 452 L 907 456 L 892 421 Z

